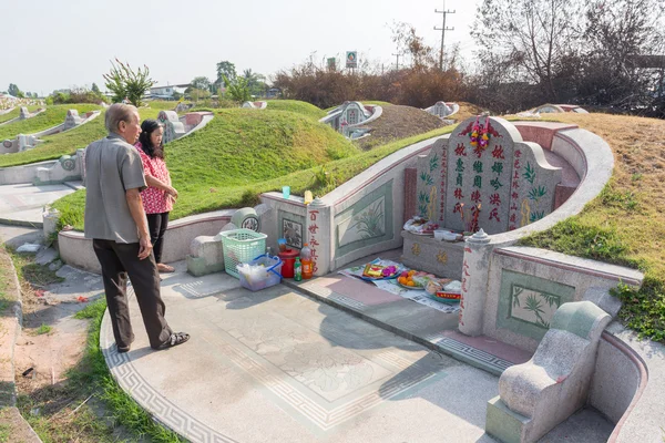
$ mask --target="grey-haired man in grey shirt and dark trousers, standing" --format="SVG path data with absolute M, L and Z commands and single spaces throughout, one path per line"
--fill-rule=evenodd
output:
M 85 151 L 85 238 L 93 239 L 102 265 L 109 315 L 119 352 L 127 352 L 134 333 L 126 296 L 127 275 L 153 349 L 184 343 L 174 333 L 160 295 L 160 275 L 141 190 L 145 189 L 141 156 L 134 146 L 141 133 L 136 107 L 116 103 L 106 110 L 109 136 Z

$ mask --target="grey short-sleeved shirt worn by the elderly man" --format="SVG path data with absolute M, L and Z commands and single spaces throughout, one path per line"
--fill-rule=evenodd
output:
M 91 143 L 85 150 L 85 238 L 137 243 L 125 192 L 145 187 L 134 146 L 116 134 Z

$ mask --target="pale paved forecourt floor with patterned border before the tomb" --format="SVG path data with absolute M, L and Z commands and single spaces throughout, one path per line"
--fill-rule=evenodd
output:
M 166 318 L 188 343 L 152 351 L 134 297 L 136 340 L 101 344 L 120 385 L 193 442 L 493 442 L 498 378 L 278 285 L 258 292 L 224 274 L 164 276 Z M 591 437 L 606 441 L 612 426 Z M 585 420 L 586 421 L 586 420 Z

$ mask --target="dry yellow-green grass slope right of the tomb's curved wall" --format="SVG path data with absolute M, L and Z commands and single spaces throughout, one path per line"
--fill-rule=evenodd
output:
M 638 268 L 640 291 L 623 287 L 620 317 L 632 329 L 665 342 L 665 121 L 605 114 L 548 115 L 603 137 L 614 173 L 584 210 L 524 245 Z

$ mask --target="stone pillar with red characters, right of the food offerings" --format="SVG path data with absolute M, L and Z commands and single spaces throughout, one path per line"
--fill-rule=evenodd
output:
M 482 333 L 484 301 L 490 274 L 490 236 L 482 229 L 467 240 L 462 264 L 462 298 L 460 300 L 460 332 L 475 337 Z

